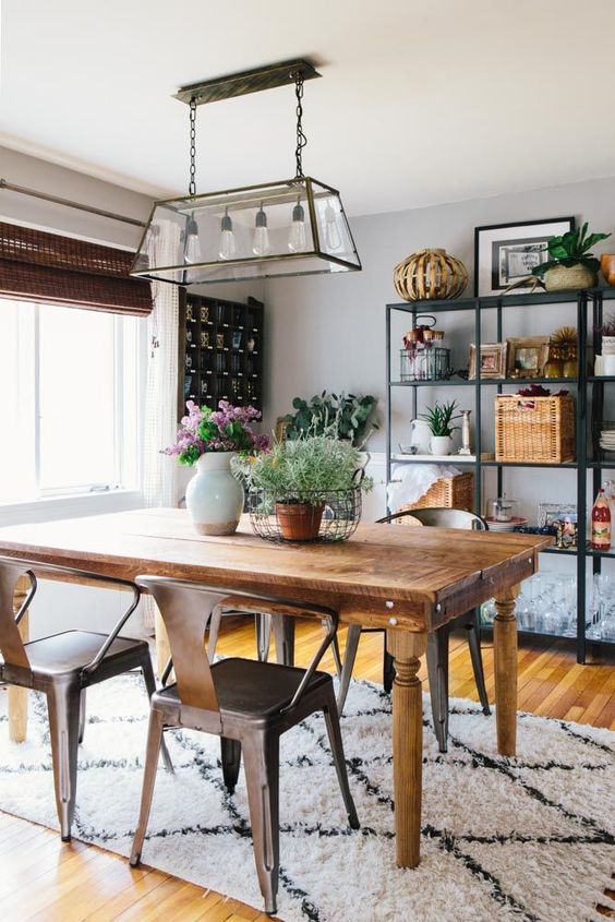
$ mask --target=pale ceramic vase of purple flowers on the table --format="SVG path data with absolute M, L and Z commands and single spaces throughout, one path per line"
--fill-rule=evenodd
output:
M 233 407 L 220 400 L 217 410 L 186 403 L 174 445 L 164 454 L 177 455 L 180 464 L 194 467 L 185 504 L 200 535 L 232 535 L 243 512 L 243 487 L 231 471 L 231 459 L 241 454 L 267 451 L 269 440 L 256 435 L 252 422 L 261 418 L 254 407 Z

